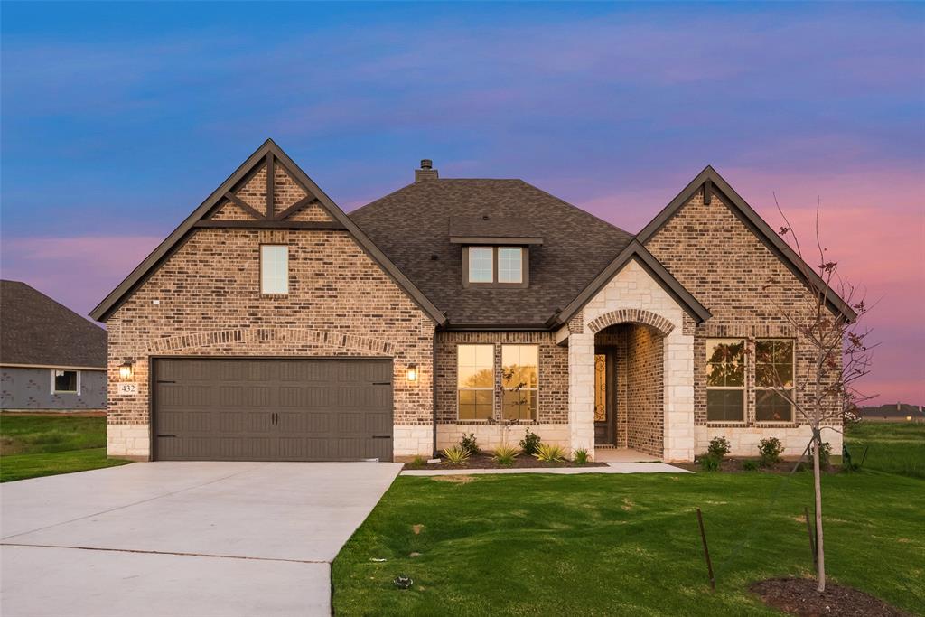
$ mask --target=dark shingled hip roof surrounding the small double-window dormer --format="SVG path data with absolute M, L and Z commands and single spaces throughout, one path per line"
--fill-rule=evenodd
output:
M 353 211 L 351 219 L 452 324 L 542 324 L 606 267 L 633 235 L 520 179 L 427 179 Z M 462 287 L 459 221 L 523 219 L 543 240 L 530 247 L 526 289 Z M 479 223 L 479 228 L 484 227 Z M 526 229 L 524 229 L 526 231 Z

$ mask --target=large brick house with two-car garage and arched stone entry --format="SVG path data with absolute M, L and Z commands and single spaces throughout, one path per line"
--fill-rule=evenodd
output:
M 670 461 L 719 435 L 800 454 L 809 427 L 755 364 L 807 374 L 772 302 L 802 310 L 818 284 L 802 272 L 711 167 L 634 236 L 429 161 L 348 216 L 267 141 L 93 310 L 109 453 L 391 460 L 528 426 Z

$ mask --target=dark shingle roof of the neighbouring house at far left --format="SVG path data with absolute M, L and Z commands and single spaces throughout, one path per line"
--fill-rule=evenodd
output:
M 3 280 L 0 364 L 105 368 L 106 331 L 25 283 Z

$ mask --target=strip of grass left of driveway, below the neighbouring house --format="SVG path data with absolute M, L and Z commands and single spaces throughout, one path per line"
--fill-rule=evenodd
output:
M 106 458 L 105 417 L 0 414 L 0 482 L 125 464 Z

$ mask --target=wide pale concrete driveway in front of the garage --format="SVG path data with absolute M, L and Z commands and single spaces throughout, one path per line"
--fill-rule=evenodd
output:
M 0 487 L 0 611 L 327 615 L 392 463 L 133 463 Z

